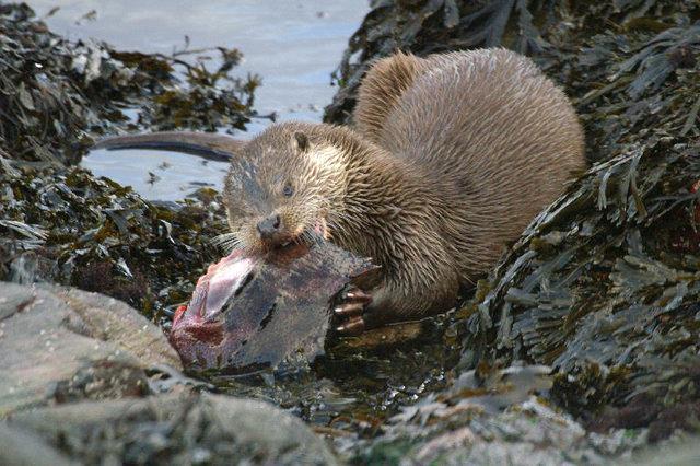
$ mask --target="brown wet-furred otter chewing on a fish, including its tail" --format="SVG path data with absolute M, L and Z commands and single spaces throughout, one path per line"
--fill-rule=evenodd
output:
M 345 334 L 454 306 L 586 166 L 569 98 L 530 59 L 500 48 L 375 61 L 352 127 L 288 121 L 247 142 L 153 133 L 101 147 L 230 156 L 232 245 L 255 252 L 320 235 L 371 257 L 377 280 L 335 310 Z

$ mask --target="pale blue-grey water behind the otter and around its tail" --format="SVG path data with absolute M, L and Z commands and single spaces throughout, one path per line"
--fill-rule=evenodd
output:
M 348 38 L 369 10 L 365 0 L 31 0 L 51 31 L 72 39 L 94 38 L 122 50 L 168 54 L 183 48 L 236 47 L 244 62 L 234 74 L 257 73 L 255 95 L 260 115 L 276 112 L 280 120 L 319 121 L 336 88 L 330 72 Z M 81 16 L 91 10 L 94 20 Z M 269 125 L 255 119 L 248 139 Z M 132 186 L 149 199 L 182 199 L 195 188 L 220 188 L 226 164 L 161 151 L 94 151 L 82 165 L 97 176 Z

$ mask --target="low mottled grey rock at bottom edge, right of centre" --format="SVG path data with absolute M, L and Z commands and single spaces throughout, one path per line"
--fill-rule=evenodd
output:
M 529 397 L 500 412 L 464 398 L 428 397 L 361 442 L 359 463 L 400 465 L 615 464 L 646 442 L 644 432 L 590 434 L 571 416 Z

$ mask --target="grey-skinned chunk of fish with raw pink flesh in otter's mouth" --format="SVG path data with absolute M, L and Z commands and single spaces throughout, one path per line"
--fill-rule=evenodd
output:
M 209 267 L 170 339 L 188 369 L 252 371 L 308 364 L 324 352 L 332 298 L 375 267 L 328 242 Z

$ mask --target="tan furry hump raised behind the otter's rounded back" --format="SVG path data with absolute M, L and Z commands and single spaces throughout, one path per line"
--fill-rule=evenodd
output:
M 401 51 L 375 61 L 362 79 L 354 108 L 354 125 L 363 136 L 381 144 L 380 133 L 401 94 L 421 70 L 422 59 Z

